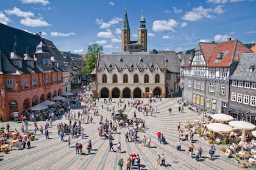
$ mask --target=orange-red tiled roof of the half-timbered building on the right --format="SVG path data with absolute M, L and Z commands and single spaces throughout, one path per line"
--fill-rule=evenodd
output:
M 216 61 L 219 52 L 224 56 L 221 61 Z M 218 43 L 210 58 L 208 67 L 229 67 L 233 62 L 238 62 L 238 53 L 251 53 L 252 51 L 244 46 L 240 41 L 232 40 Z

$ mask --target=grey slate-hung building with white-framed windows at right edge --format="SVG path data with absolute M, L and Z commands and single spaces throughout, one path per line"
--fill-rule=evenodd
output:
M 230 114 L 256 124 L 256 53 L 239 54 L 239 64 L 230 77 Z

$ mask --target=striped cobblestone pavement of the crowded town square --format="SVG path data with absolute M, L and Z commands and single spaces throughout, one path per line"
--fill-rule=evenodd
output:
M 147 99 L 144 98 L 144 101 Z M 107 111 L 106 106 L 101 108 L 101 104 L 104 100 L 101 98 L 98 104 L 99 114 L 103 118 L 110 118 L 111 113 Z M 113 99 L 113 104 L 116 104 L 118 98 Z M 82 124 L 85 129 L 85 137 L 71 138 L 71 148 L 68 148 L 68 143 L 60 141 L 60 137 L 57 134 L 56 125 L 60 122 L 68 123 L 65 117 L 61 120 L 53 122 L 52 127 L 49 128 L 49 139 L 46 139 L 44 135 L 35 135 L 36 140 L 31 142 L 32 148 L 24 150 L 16 150 L 13 148 L 7 154 L 0 153 L 0 169 L 119 169 L 118 160 L 124 158 L 126 160 L 130 154 L 140 154 L 141 169 L 241 169 L 241 163 L 237 164 L 234 158 L 225 157 L 224 153 L 220 151 L 221 145 L 216 145 L 216 154 L 214 160 L 211 161 L 207 158 L 207 151 L 210 147 L 207 140 L 203 140 L 202 137 L 194 135 L 194 149 L 199 146 L 203 149 L 202 158 L 200 161 L 195 160 L 195 156 L 188 157 L 187 149 L 189 146 L 188 141 L 182 141 L 182 151 L 176 150 L 176 143 L 179 138 L 177 132 L 177 122 L 186 124 L 188 120 L 194 121 L 195 118 L 200 119 L 200 115 L 191 112 L 187 107 L 184 108 L 184 113 L 178 112 L 177 98 L 163 98 L 162 101 L 152 103 L 157 107 L 157 113 L 151 117 L 143 116 L 142 112 L 137 112 L 138 118 L 143 118 L 146 121 L 146 127 L 142 132 L 138 133 L 138 143 L 126 142 L 124 138 L 124 132 L 126 127 L 118 127 L 118 134 L 113 134 L 114 146 L 116 149 L 116 143 L 121 141 L 122 152 L 109 152 L 108 140 L 101 140 L 98 136 L 98 123 L 99 116 L 94 117 L 93 123 Z M 100 107 L 99 107 L 100 106 Z M 172 114 L 169 115 L 168 107 L 172 107 Z M 127 114 L 129 118 L 133 117 L 134 107 L 128 107 L 124 114 Z M 91 114 L 93 115 L 93 114 Z M 15 127 L 20 131 L 21 123 L 8 122 L 10 129 Z M 0 123 L 0 127 L 6 127 L 7 122 Z M 44 125 L 44 121 L 38 121 L 38 126 Z M 181 126 L 183 130 L 183 126 Z M 33 123 L 29 122 L 29 131 L 32 131 Z M 157 132 L 162 132 L 168 144 L 160 144 L 157 141 Z M 141 140 L 143 135 L 151 136 L 151 147 L 146 148 L 141 146 Z M 69 135 L 65 135 L 67 140 Z M 93 151 L 90 155 L 85 153 L 88 139 L 91 139 Z M 84 154 L 76 155 L 74 144 L 78 141 L 84 146 Z M 226 146 L 225 146 L 226 147 Z M 156 154 L 164 153 L 166 155 L 166 168 L 163 166 L 157 166 Z M 254 169 L 248 162 L 246 162 L 248 169 Z M 123 166 L 126 169 L 126 166 Z M 137 169 L 137 166 L 133 166 L 132 169 Z

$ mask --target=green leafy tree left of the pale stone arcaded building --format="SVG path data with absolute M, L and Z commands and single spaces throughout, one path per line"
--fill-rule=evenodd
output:
M 103 48 L 102 46 L 99 46 L 99 44 L 91 44 L 88 46 L 88 52 L 84 60 L 85 67 L 82 69 L 86 75 L 93 71 L 98 60 L 98 55 L 102 52 Z

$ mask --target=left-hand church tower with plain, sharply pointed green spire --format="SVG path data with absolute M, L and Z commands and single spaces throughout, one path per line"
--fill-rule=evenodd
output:
M 128 44 L 130 42 L 130 26 L 128 22 L 127 12 L 124 14 L 124 21 L 122 27 L 122 52 L 129 50 Z

